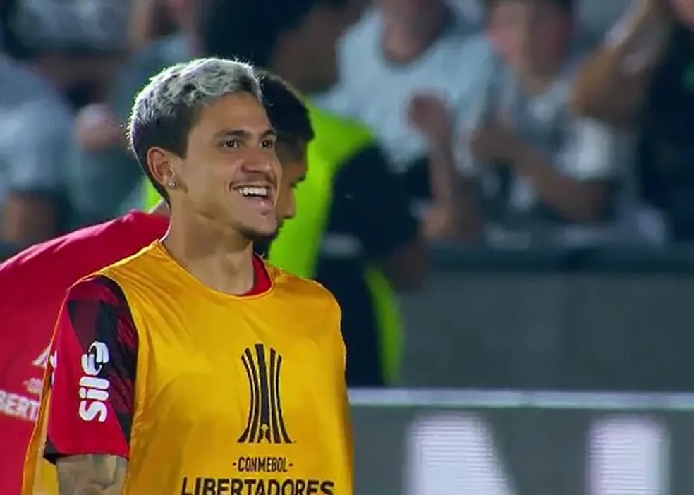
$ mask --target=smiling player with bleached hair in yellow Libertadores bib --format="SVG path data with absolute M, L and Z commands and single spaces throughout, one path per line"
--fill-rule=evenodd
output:
M 68 291 L 24 494 L 42 453 L 60 495 L 351 494 L 339 307 L 253 255 L 282 173 L 260 100 L 252 68 L 219 59 L 135 100 L 131 145 L 170 228 Z

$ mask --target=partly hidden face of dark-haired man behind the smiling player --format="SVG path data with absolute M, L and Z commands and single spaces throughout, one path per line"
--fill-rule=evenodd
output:
M 296 215 L 296 199 L 294 189 L 306 177 L 306 144 L 304 142 L 277 143 L 277 157 L 282 164 L 282 180 L 279 185 L 276 215 L 278 231 L 282 222 Z

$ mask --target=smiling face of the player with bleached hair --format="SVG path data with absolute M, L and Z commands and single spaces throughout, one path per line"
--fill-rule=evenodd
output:
M 282 174 L 274 143 L 252 94 L 230 94 L 206 106 L 188 134 L 185 159 L 176 162 L 183 209 L 251 240 L 272 235 Z

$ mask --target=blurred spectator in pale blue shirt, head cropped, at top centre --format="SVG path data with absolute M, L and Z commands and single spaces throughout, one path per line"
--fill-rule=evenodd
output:
M 465 106 L 491 56 L 479 27 L 445 0 L 376 0 L 341 42 L 341 80 L 324 106 L 372 129 L 414 197 L 429 195 L 427 145 L 408 108 L 420 92 Z

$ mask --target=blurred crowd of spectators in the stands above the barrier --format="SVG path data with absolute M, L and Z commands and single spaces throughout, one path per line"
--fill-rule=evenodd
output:
M 152 73 L 224 36 L 203 4 L 3 1 L 8 249 L 141 207 L 122 124 Z M 292 8 L 264 4 L 269 16 Z M 332 11 L 308 33 L 316 46 L 303 60 L 281 55 L 279 71 L 372 130 L 427 241 L 694 236 L 687 0 L 325 5 Z

